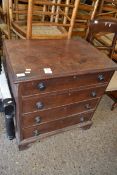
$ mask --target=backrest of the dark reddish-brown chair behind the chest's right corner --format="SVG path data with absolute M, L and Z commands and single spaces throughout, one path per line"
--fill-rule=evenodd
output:
M 113 34 L 111 43 L 102 39 L 105 34 Z M 113 59 L 117 41 L 117 19 L 96 19 L 91 21 L 87 41 L 98 49 L 106 51 L 108 56 Z

